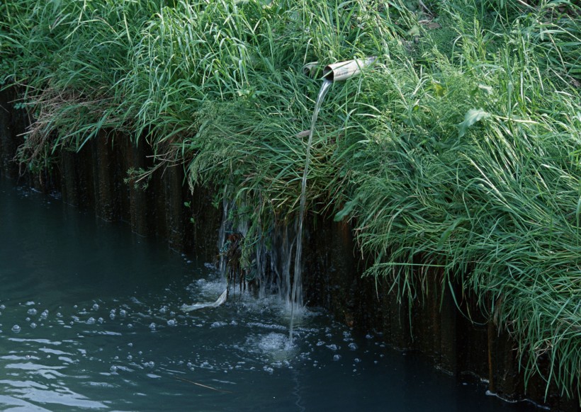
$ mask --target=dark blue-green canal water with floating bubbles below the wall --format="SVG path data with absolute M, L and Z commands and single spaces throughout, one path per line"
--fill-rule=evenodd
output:
M 0 178 L 1 411 L 533 411 Z

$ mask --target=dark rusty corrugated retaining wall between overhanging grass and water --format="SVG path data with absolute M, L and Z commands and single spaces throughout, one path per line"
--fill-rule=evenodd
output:
M 69 205 L 89 208 L 101 219 L 123 221 L 142 236 L 157 235 L 167 239 L 169 247 L 193 253 L 205 261 L 218 256 L 220 227 L 227 217 L 225 207 L 212 206 L 218 190 L 196 188 L 190 193 L 184 187 L 180 166 L 153 173 L 146 190 L 124 182 L 129 168 L 147 168 L 152 159 L 146 144 L 136 146 L 125 135 L 102 132 L 79 153 L 63 151 L 51 173 L 21 176 L 13 161 L 23 141 L 28 117 L 13 108 L 14 89 L 0 92 L 0 178 L 32 185 L 38 190 L 59 190 Z M 141 142 L 145 142 L 142 139 Z M 188 202 L 189 207 L 184 206 Z M 191 224 L 193 218 L 196 224 Z M 244 224 L 235 228 L 244 232 Z M 293 265 L 296 229 L 293 222 L 279 222 L 266 240 L 256 245 L 255 265 L 263 275 L 261 293 L 287 296 Z M 224 236 L 222 234 L 222 236 Z M 441 286 L 441 274 L 431 272 L 427 287 L 431 291 L 423 302 L 397 302 L 385 280 L 362 278 L 365 257 L 356 251 L 351 227 L 334 222 L 332 217 L 305 219 L 303 252 L 304 302 L 329 309 L 336 319 L 356 331 L 382 334 L 395 348 L 421 350 L 434 358 L 441 369 L 461 376 L 466 372 L 489 381 L 490 390 L 519 399 L 524 379 L 518 370 L 514 342 L 504 331 L 478 318 L 474 299 L 466 297 L 463 312 L 473 316 L 474 323 L 463 316 Z M 460 292 L 457 290 L 456 292 Z M 460 294 L 457 293 L 457 296 Z M 543 360 L 541 359 L 541 362 Z M 545 391 L 541 379 L 529 382 L 526 397 L 543 402 Z M 547 403 L 555 410 L 580 411 L 577 401 L 563 399 L 551 388 Z

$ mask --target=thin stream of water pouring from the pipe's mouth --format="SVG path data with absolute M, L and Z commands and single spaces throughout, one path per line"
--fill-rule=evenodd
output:
M 298 214 L 298 233 L 297 233 L 297 248 L 295 253 L 295 272 L 293 278 L 293 291 L 290 294 L 290 328 L 289 328 L 289 341 L 293 344 L 293 324 L 295 309 L 298 309 L 303 304 L 303 282 L 301 280 L 302 270 L 300 267 L 300 258 L 303 253 L 303 219 L 305 217 L 305 203 L 306 192 L 307 192 L 307 176 L 309 173 L 309 162 L 310 162 L 310 147 L 312 144 L 312 135 L 315 133 L 315 123 L 317 122 L 317 116 L 319 115 L 319 110 L 321 108 L 322 102 L 327 95 L 327 91 L 331 87 L 332 81 L 324 79 L 321 85 L 319 96 L 317 96 L 317 102 L 315 103 L 315 110 L 312 112 L 312 120 L 310 122 L 310 132 L 309 141 L 307 143 L 307 154 L 305 156 L 305 170 L 303 171 L 303 182 L 300 186 L 300 208 Z

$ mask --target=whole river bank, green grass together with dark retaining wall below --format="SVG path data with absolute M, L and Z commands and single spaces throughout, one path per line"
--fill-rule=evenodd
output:
M 578 406 L 580 16 L 6 1 L 2 164 L 492 392 Z M 313 129 L 325 68 L 351 59 L 366 64 L 337 74 Z

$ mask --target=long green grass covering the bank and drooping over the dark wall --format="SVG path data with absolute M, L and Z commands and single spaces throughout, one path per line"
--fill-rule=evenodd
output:
M 0 11 L 1 79 L 25 88 L 35 115 L 21 161 L 35 168 L 121 130 L 158 166 L 183 164 L 190 185 L 226 187 L 247 244 L 298 209 L 322 66 L 378 57 L 327 95 L 308 209 L 350 219 L 366 275 L 401 299 L 432 293 L 424 269 L 439 268 L 514 336 L 527 377 L 581 400 L 575 2 L 21 0 Z

